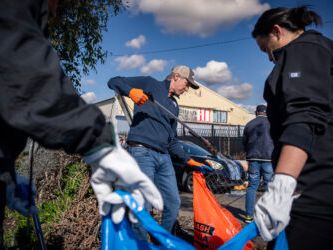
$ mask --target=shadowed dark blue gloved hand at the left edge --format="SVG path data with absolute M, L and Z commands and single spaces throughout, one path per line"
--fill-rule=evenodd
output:
M 14 181 L 11 175 L 6 172 L 1 174 L 0 180 L 6 184 L 6 205 L 8 208 L 26 217 L 36 212 L 33 202 L 29 202 L 29 198 L 33 199 L 35 196 L 36 188 L 34 185 L 32 186 L 32 197 L 29 197 L 30 186 L 28 178 L 16 175 L 16 181 Z

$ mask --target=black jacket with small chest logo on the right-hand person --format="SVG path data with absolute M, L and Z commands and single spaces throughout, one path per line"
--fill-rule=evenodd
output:
M 305 150 L 308 160 L 298 178 L 302 195 L 293 211 L 332 219 L 333 42 L 306 31 L 274 51 L 274 57 L 264 90 L 275 143 L 273 162 L 284 144 Z

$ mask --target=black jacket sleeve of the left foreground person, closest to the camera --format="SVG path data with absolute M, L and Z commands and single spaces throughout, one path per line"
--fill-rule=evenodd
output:
M 47 0 L 0 1 L 0 160 L 15 158 L 28 136 L 68 153 L 113 144 L 104 115 L 60 67 L 46 37 L 47 7 Z

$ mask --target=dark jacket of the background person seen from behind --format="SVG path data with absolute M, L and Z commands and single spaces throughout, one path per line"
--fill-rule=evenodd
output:
M 266 116 L 259 115 L 244 128 L 243 144 L 247 160 L 271 161 L 273 141 Z

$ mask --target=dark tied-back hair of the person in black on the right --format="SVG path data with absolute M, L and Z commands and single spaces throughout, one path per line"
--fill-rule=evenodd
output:
M 321 25 L 321 17 L 307 6 L 297 8 L 274 8 L 265 11 L 258 19 L 252 31 L 252 37 L 265 36 L 272 32 L 275 24 L 289 31 L 305 30 L 305 27 L 314 23 Z

